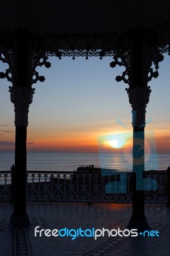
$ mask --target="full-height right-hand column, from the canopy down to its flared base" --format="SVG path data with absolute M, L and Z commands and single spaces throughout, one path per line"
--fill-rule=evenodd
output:
M 146 104 L 150 98 L 150 87 L 146 81 L 146 51 L 144 49 L 144 29 L 132 31 L 132 84 L 127 89 L 129 102 L 132 106 L 133 126 L 133 200 L 132 216 L 129 227 L 148 228 L 144 214 L 144 127 Z

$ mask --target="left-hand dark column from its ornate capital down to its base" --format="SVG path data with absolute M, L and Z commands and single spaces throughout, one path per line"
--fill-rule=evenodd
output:
M 27 227 L 29 217 L 26 212 L 26 181 L 27 181 L 27 115 L 29 104 L 33 99 L 34 90 L 28 87 L 10 88 L 11 101 L 15 106 L 15 171 L 13 214 L 10 219 L 14 227 Z

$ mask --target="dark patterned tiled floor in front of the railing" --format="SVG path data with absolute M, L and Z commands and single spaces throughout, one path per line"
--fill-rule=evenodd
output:
M 146 205 L 146 216 L 159 237 L 35 237 L 39 229 L 127 227 L 131 216 L 130 204 L 27 204 L 31 226 L 10 229 L 12 205 L 0 204 L 0 255 L 9 256 L 170 256 L 170 207 Z M 87 233 L 89 234 L 89 233 Z

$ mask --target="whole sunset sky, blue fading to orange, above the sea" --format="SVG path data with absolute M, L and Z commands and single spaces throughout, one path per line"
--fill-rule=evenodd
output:
M 132 108 L 125 88 L 118 83 L 124 67 L 111 68 L 111 57 L 56 57 L 50 68 L 37 68 L 45 82 L 33 84 L 29 106 L 27 151 L 98 152 L 100 141 L 107 150 L 122 152 L 132 138 Z M 159 76 L 151 86 L 146 108 L 146 144 L 170 153 L 169 64 L 164 55 Z M 6 65 L 0 63 L 1 71 Z M 15 147 L 14 108 L 6 79 L 0 79 L 0 151 Z M 147 121 L 148 120 L 148 121 Z M 148 142 L 147 142 L 148 141 Z

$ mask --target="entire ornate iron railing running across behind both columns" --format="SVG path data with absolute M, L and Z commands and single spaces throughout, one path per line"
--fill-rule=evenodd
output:
M 27 201 L 132 202 L 133 173 L 27 172 Z M 167 172 L 145 172 L 145 202 L 166 204 Z M 12 197 L 12 172 L 0 172 L 0 202 Z

